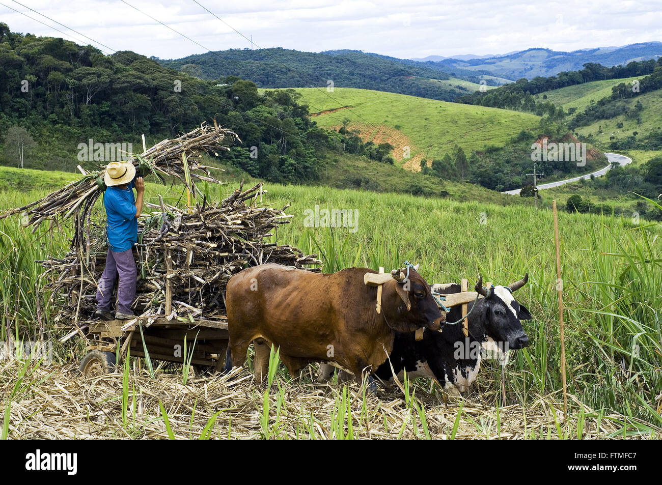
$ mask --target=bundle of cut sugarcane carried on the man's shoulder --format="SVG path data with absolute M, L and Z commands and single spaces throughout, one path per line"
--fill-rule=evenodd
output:
M 220 183 L 215 179 L 206 165 L 189 163 L 187 159 L 195 160 L 201 152 L 218 152 L 230 150 L 222 143 L 227 140 L 239 140 L 239 137 L 225 128 L 214 128 L 203 124 L 200 128 L 173 140 L 163 140 L 140 155 L 131 155 L 130 162 L 136 167 L 136 173 L 141 175 L 153 174 L 157 179 L 165 182 L 166 178 L 174 177 L 187 186 L 191 195 L 195 197 L 197 187 L 195 180 Z M 202 171 L 205 175 L 197 173 Z M 11 214 L 21 213 L 24 226 L 36 228 L 44 222 L 57 219 L 68 219 L 73 216 L 74 235 L 72 246 L 81 242 L 83 235 L 91 224 L 91 211 L 97 199 L 105 190 L 103 176 L 105 169 L 87 173 L 80 179 L 71 182 L 62 189 L 48 194 L 46 197 L 31 202 L 23 207 L 12 209 L 0 214 L 0 219 Z M 89 235 L 87 236 L 89 243 Z

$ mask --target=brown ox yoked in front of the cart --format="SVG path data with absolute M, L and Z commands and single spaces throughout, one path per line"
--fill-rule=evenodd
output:
M 361 384 L 363 371 L 371 373 L 391 353 L 396 331 L 441 328 L 444 318 L 430 287 L 413 268 L 408 281 L 399 283 L 395 277 L 402 280 L 404 273 L 394 271 L 383 285 L 379 314 L 377 287 L 363 283 L 365 273 L 375 271 L 326 275 L 269 264 L 234 275 L 226 292 L 230 339 L 224 371 L 242 365 L 253 342 L 255 376 L 262 382 L 273 343 L 290 375 L 312 362 L 332 362 Z

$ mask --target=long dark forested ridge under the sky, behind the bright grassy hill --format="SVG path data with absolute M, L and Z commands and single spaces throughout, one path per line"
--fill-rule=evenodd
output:
M 158 62 L 201 79 L 218 80 L 234 75 L 265 88 L 358 87 L 442 101 L 453 101 L 473 92 L 481 81 L 479 72 L 451 69 L 456 71 L 452 77 L 476 83 L 475 89 L 460 83 L 439 83 L 450 80 L 451 75 L 440 71 L 438 66 L 427 65 L 432 63 L 354 50 L 316 53 L 283 48 L 232 49 Z M 496 85 L 491 78 L 485 82 Z

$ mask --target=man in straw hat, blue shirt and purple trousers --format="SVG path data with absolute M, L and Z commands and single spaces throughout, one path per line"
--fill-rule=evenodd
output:
M 135 181 L 134 181 L 135 179 Z M 104 320 L 113 320 L 111 314 L 111 296 L 115 279 L 117 285 L 118 320 L 136 318 L 131 305 L 136 297 L 136 260 L 133 257 L 133 245 L 138 242 L 138 217 L 142 212 L 142 199 L 145 184 L 142 177 L 136 178 L 136 168 L 126 161 L 111 161 L 106 167 L 103 178 L 106 192 L 103 205 L 107 215 L 108 255 L 106 267 L 97 288 L 96 315 Z M 134 183 L 135 182 L 135 183 Z M 136 189 L 136 198 L 133 189 Z

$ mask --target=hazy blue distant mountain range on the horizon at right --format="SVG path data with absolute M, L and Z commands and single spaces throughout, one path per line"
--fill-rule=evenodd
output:
M 573 52 L 559 52 L 544 48 L 531 48 L 510 52 L 500 56 L 455 56 L 433 60 L 436 56 L 425 58 L 426 65 L 436 64 L 442 70 L 463 69 L 464 71 L 485 71 L 506 79 L 533 79 L 536 76 L 549 77 L 561 71 L 577 71 L 587 62 L 612 67 L 628 64 L 631 61 L 657 59 L 662 56 L 662 42 L 643 42 L 628 46 L 610 46 L 594 49 L 581 49 Z M 441 56 L 438 56 L 441 57 Z

